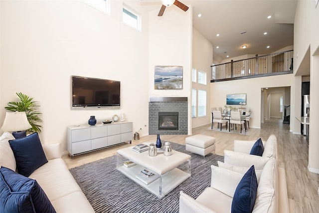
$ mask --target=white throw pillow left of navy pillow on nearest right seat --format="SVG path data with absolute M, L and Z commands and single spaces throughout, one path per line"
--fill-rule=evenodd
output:
M 243 174 L 211 165 L 210 187 L 233 198 Z

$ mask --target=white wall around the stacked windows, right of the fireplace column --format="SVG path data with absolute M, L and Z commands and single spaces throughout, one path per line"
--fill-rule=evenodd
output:
M 192 67 L 196 70 L 205 71 L 207 74 L 206 85 L 192 82 L 192 87 L 207 91 L 207 108 L 206 116 L 192 118 L 192 128 L 202 126 L 211 122 L 210 112 L 210 80 L 211 65 L 213 63 L 213 45 L 201 35 L 195 28 L 193 28 L 193 49 L 192 49 Z M 198 80 L 198 76 L 197 76 Z

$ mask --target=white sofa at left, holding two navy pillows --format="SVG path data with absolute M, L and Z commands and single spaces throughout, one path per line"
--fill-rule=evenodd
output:
M 14 137 L 8 132 L 4 132 L 0 137 L 0 166 L 15 171 L 16 161 L 9 140 L 14 140 Z M 57 213 L 94 213 L 61 158 L 60 144 L 42 147 L 48 162 L 36 169 L 28 178 L 36 180 Z

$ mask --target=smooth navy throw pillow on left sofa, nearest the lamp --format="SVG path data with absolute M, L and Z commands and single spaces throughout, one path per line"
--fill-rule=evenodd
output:
M 18 173 L 29 177 L 37 168 L 47 163 L 38 133 L 24 138 L 9 140 Z

